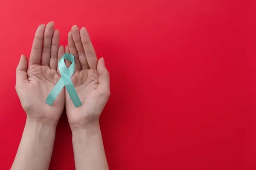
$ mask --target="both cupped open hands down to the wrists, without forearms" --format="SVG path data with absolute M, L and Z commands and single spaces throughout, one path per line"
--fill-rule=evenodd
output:
M 71 129 L 98 123 L 110 95 L 110 77 L 103 58 L 97 59 L 86 28 L 75 25 L 68 33 L 68 45 L 59 46 L 54 23 L 40 25 L 29 58 L 22 55 L 16 71 L 16 91 L 27 119 L 56 126 L 66 107 Z M 45 100 L 61 78 L 58 61 L 64 53 L 73 54 L 76 70 L 71 77 L 82 106 L 76 108 L 62 89 L 52 106 Z M 71 63 L 66 61 L 67 67 Z

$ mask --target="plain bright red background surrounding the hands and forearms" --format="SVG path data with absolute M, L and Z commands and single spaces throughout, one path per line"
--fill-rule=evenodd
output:
M 54 21 L 62 45 L 85 26 L 111 73 L 100 120 L 111 170 L 255 170 L 255 2 L 0 0 L 0 169 L 26 120 L 15 68 Z M 75 169 L 71 136 L 64 114 L 50 170 Z

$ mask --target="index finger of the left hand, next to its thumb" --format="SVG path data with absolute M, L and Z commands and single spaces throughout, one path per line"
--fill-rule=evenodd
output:
M 44 30 L 45 30 L 45 25 L 42 24 L 38 26 L 35 32 L 35 38 L 32 44 L 32 49 L 29 57 L 29 65 L 40 65 L 41 55 L 42 55 L 42 46 L 43 46 L 43 40 L 44 40 Z

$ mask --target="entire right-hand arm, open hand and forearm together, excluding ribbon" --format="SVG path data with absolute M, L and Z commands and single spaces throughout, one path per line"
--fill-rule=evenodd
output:
M 66 53 L 75 57 L 72 82 L 83 103 L 75 108 L 66 91 L 67 118 L 72 130 L 77 170 L 108 170 L 99 127 L 99 116 L 110 95 L 109 73 L 103 58 L 97 59 L 87 30 L 75 25 L 68 33 Z M 67 62 L 67 66 L 70 63 Z

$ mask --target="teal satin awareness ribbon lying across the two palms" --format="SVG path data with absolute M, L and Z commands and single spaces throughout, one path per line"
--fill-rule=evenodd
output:
M 67 59 L 70 62 L 72 62 L 71 65 L 69 66 L 69 68 L 66 67 L 64 59 Z M 70 95 L 72 102 L 74 103 L 76 108 L 78 108 L 79 106 L 82 105 L 82 103 L 81 103 L 81 101 L 76 93 L 76 89 L 71 81 L 71 77 L 73 76 L 73 74 L 75 72 L 75 57 L 72 54 L 64 54 L 58 62 L 58 69 L 61 74 L 61 79 L 59 79 L 57 84 L 53 87 L 51 93 L 48 95 L 45 102 L 51 106 L 52 103 L 57 98 L 58 94 L 60 94 L 62 88 L 64 88 L 64 86 L 65 86 L 68 94 Z

